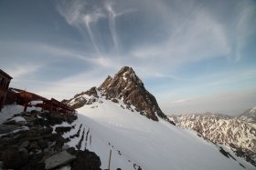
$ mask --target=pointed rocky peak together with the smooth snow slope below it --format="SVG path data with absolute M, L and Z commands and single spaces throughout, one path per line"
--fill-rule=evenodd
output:
M 77 110 L 83 129 L 67 145 L 99 155 L 102 169 L 255 169 L 228 146 L 176 126 L 131 67 L 62 102 Z

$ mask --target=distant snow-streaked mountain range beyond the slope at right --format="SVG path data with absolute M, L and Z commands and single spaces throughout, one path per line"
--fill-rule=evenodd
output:
M 256 165 L 255 110 L 240 116 L 217 114 L 172 115 L 176 125 L 197 131 L 213 143 L 228 145 L 237 155 Z

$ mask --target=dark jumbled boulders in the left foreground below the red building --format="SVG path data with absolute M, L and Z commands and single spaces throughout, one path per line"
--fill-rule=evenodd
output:
M 69 165 L 73 170 L 100 169 L 101 160 L 88 150 L 76 150 L 61 135 L 77 116 L 50 113 L 22 113 L 0 125 L 0 169 L 57 169 Z

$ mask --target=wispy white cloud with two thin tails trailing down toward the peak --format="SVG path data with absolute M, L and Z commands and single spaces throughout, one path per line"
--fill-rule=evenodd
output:
M 104 52 L 101 50 L 102 37 L 101 33 L 95 31 L 97 30 L 98 21 L 101 19 L 108 20 L 112 48 L 114 52 L 118 52 L 121 44 L 118 41 L 115 25 L 116 19 L 121 15 L 133 12 L 132 9 L 116 12 L 113 7 L 114 5 L 114 1 L 99 1 L 93 5 L 91 5 L 91 2 L 81 0 L 69 3 L 61 1 L 58 5 L 58 10 L 59 14 L 67 20 L 69 25 L 76 26 L 83 35 L 88 34 L 90 36 L 91 44 L 97 55 L 101 56 L 102 53 L 104 55 Z

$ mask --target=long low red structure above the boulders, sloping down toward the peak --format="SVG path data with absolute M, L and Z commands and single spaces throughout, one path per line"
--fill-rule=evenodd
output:
M 70 108 L 68 105 L 62 104 L 54 98 L 48 100 L 40 95 L 17 88 L 9 88 L 9 91 L 11 94 L 16 94 L 16 100 L 18 101 L 17 103 L 19 105 L 24 105 L 24 112 L 27 111 L 27 106 L 35 106 L 40 107 L 43 110 L 48 110 L 49 112 L 61 113 L 64 115 L 75 115 L 76 113 L 75 109 Z M 40 101 L 41 103 L 34 104 L 35 101 Z

